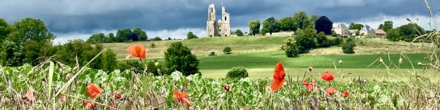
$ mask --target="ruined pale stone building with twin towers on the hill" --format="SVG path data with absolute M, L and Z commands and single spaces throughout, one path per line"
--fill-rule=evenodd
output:
M 230 16 L 225 12 L 225 5 L 221 5 L 221 19 L 215 21 L 215 5 L 208 5 L 208 21 L 206 21 L 206 36 L 230 36 Z

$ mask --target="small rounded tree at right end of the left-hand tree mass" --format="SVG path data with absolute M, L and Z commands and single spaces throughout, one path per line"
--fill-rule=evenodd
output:
M 112 50 L 106 50 L 102 53 L 102 70 L 113 72 L 117 66 L 116 54 Z

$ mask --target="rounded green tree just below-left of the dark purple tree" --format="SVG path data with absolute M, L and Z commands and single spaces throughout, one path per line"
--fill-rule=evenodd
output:
M 300 54 L 309 52 L 309 50 L 318 47 L 315 40 L 316 30 L 307 28 L 296 31 L 295 41 Z

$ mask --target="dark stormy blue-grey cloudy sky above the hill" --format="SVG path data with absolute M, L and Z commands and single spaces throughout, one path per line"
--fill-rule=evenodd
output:
M 434 16 L 440 1 L 427 1 Z M 245 32 L 253 19 L 282 19 L 298 11 L 326 16 L 334 24 L 354 22 L 372 28 L 384 21 L 398 27 L 408 23 L 406 18 L 426 30 L 434 19 L 440 22 L 434 17 L 430 22 L 423 0 L 0 0 L 0 18 L 11 24 L 26 17 L 41 19 L 56 34 L 55 43 L 124 28 L 142 28 L 148 37 L 184 39 L 188 32 L 206 36 L 209 3 L 216 5 L 217 19 L 223 3 L 232 30 Z

